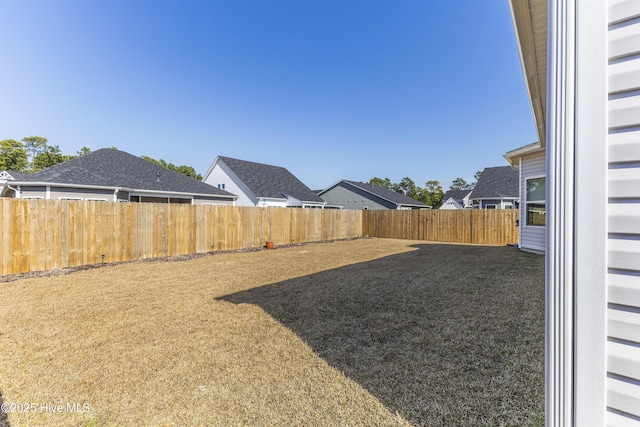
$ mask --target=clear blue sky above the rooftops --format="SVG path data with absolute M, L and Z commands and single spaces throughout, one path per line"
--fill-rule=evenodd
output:
M 473 180 L 536 140 L 507 0 L 0 0 L 0 139 L 309 187 Z

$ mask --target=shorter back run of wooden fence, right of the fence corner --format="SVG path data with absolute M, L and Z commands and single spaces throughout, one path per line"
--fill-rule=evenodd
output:
M 517 209 L 370 210 L 363 217 L 363 234 L 503 246 L 518 243 L 517 220 Z

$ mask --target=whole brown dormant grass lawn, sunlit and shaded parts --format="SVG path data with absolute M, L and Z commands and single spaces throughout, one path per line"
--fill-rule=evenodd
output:
M 0 425 L 542 425 L 543 269 L 362 239 L 0 283 Z

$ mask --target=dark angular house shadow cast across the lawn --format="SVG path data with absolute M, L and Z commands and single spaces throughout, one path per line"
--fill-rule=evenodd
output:
M 221 299 L 260 306 L 414 424 L 543 425 L 543 257 L 415 248 Z

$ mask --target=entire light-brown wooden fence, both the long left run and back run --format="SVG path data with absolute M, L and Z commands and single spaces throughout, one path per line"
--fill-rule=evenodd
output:
M 363 236 L 504 245 L 517 211 L 355 211 L 0 198 L 0 274 Z M 104 256 L 104 258 L 103 258 Z

